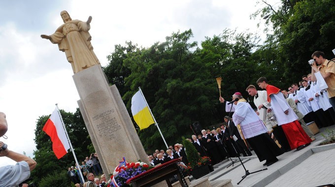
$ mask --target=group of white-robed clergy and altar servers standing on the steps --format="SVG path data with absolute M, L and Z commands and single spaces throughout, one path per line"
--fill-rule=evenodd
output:
M 302 150 L 315 140 L 305 121 L 314 121 L 319 128 L 335 124 L 335 61 L 324 56 L 323 52 L 315 51 L 311 74 L 302 76 L 300 84 L 293 83 L 289 91 L 268 84 L 266 77 L 256 82 L 263 91 L 249 85 L 246 91 L 254 97 L 256 109 L 251 108 L 240 92 L 234 93 L 231 103 L 219 98 L 227 112 L 234 112 L 233 121 L 243 139 L 260 161 L 266 160 L 263 165 L 270 166 L 278 161 L 276 156 Z

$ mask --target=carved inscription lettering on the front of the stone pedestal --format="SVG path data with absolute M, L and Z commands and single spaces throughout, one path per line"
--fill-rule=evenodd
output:
M 121 125 L 118 124 L 116 118 L 114 117 L 114 112 L 114 109 L 111 109 L 92 117 L 93 121 L 99 123 L 97 128 L 101 138 L 113 140 L 115 138 L 114 133 L 121 129 Z

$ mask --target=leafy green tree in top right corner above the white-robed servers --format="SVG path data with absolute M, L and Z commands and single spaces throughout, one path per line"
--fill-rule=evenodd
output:
M 283 85 L 289 86 L 310 73 L 307 61 L 314 51 L 324 51 L 327 58 L 333 57 L 333 0 L 281 0 L 278 7 L 266 0 L 261 2 L 265 7 L 254 16 L 261 15 L 266 18 L 267 26 L 272 26 L 273 34 L 268 34 L 264 47 L 274 54 Z

